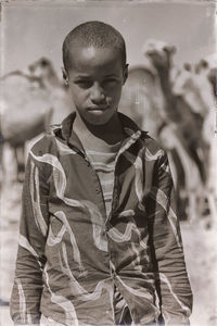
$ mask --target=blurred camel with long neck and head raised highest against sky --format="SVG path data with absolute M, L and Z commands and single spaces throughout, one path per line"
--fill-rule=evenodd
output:
M 177 150 L 184 170 L 186 192 L 189 198 L 189 215 L 195 221 L 199 211 L 196 200 L 208 200 L 212 216 L 216 216 L 214 199 L 210 199 L 207 186 L 210 164 L 206 164 L 210 155 L 210 141 L 205 137 L 204 126 L 209 108 L 207 98 L 210 97 L 210 85 L 203 75 L 195 76 L 191 66 L 186 65 L 184 71 L 173 75 L 173 55 L 175 49 L 166 42 L 151 40 L 143 48 L 144 55 L 157 72 L 157 77 L 164 95 L 167 120 L 165 126 L 169 130 L 174 149 Z M 204 91 L 205 89 L 205 91 Z M 167 130 L 167 131 L 168 131 Z M 177 137 L 178 136 L 178 137 Z M 159 135 L 161 137 L 161 135 Z M 171 141 L 171 142 L 173 142 Z M 193 173 L 188 166 L 194 165 L 199 173 Z

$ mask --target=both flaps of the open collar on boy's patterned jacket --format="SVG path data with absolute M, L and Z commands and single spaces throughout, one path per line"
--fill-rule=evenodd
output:
M 137 139 L 139 139 L 141 137 L 142 131 L 137 126 L 137 124 L 131 118 L 126 116 L 125 114 L 118 112 L 118 116 L 120 120 L 120 124 L 123 126 L 123 130 L 128 136 L 128 137 L 126 137 L 126 139 L 123 143 L 123 146 L 126 147 L 127 143 L 131 145 Z M 73 123 L 75 121 L 75 117 L 76 117 L 76 112 L 73 112 L 63 120 L 62 125 L 61 125 L 61 136 L 62 136 L 61 138 L 63 138 L 69 147 L 77 148 L 78 150 L 81 150 L 82 152 L 85 152 L 79 138 L 73 130 Z M 56 131 L 58 130 L 53 130 L 53 133 L 58 136 L 59 133 L 56 133 Z M 60 131 L 60 128 L 59 128 L 59 131 Z M 129 147 L 129 146 L 127 146 L 127 147 Z

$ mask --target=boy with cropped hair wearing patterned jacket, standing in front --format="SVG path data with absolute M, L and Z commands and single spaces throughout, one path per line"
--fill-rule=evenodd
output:
M 63 43 L 76 113 L 29 153 L 15 324 L 189 324 L 191 289 L 166 154 L 117 113 L 125 41 L 87 22 Z M 155 292 L 159 294 L 159 306 Z

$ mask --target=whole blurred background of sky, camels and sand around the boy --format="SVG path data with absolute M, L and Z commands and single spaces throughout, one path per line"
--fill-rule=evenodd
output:
M 216 1 L 9 1 L 1 4 L 0 318 L 14 276 L 29 148 L 74 111 L 62 42 L 80 23 L 116 27 L 129 77 L 119 111 L 167 151 L 177 190 L 192 325 L 217 325 Z

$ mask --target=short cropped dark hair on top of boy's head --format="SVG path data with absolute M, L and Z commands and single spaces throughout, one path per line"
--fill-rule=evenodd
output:
M 69 49 L 73 47 L 111 48 L 120 52 L 123 66 L 126 65 L 126 45 L 122 34 L 113 26 L 90 21 L 78 25 L 65 37 L 62 52 L 64 68 L 69 68 Z

